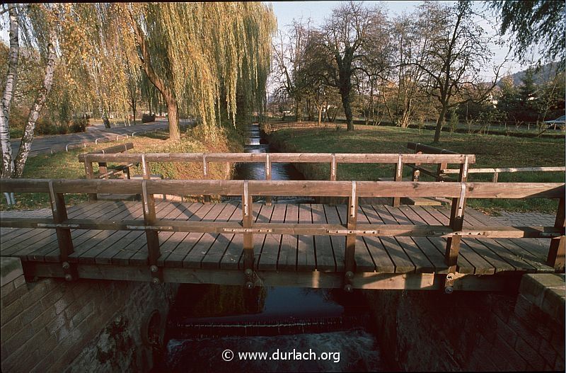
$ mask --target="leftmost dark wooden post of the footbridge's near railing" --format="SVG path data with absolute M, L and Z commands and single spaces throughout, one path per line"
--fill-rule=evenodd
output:
M 62 193 L 54 193 L 53 180 L 49 182 L 51 212 L 53 214 L 53 222 L 55 224 L 64 223 L 67 220 L 67 207 L 65 206 L 65 198 Z M 79 278 L 76 265 L 69 263 L 69 255 L 74 251 L 73 239 L 71 238 L 71 229 L 55 228 L 57 234 L 57 243 L 59 244 L 59 254 L 61 256 L 61 265 L 65 275 L 65 280 L 72 281 Z

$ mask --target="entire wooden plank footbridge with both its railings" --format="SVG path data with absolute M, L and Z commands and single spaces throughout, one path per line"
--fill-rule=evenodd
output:
M 25 275 L 374 289 L 504 289 L 525 272 L 562 270 L 564 183 L 470 183 L 463 154 L 85 154 L 86 180 L 4 179 L 3 193 L 47 193 L 52 217 L 2 217 L 1 256 Z M 102 178 L 93 163 L 141 163 L 143 180 Z M 149 180 L 149 162 L 262 162 L 268 180 Z M 270 179 L 275 162 L 328 162 L 330 180 Z M 340 181 L 338 163 L 459 165 L 455 182 Z M 127 173 L 129 175 L 129 173 Z M 89 202 L 67 207 L 66 194 Z M 141 201 L 97 201 L 98 193 Z M 224 202 L 154 195 L 231 196 Z M 333 197 L 271 203 L 268 197 Z M 253 202 L 260 197 L 266 202 Z M 450 207 L 392 207 L 383 197 L 445 197 Z M 554 226 L 495 226 L 470 198 L 558 198 Z

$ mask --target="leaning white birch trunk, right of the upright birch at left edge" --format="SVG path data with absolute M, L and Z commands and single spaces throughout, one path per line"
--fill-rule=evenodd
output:
M 28 160 L 28 155 L 30 154 L 31 143 L 33 142 L 33 131 L 35 130 L 35 122 L 40 116 L 43 105 L 45 105 L 45 100 L 47 95 L 51 91 L 51 86 L 53 84 L 53 73 L 55 71 L 55 33 L 54 30 L 50 32 L 50 41 L 47 45 L 47 66 L 45 67 L 45 76 L 43 78 L 43 85 L 40 91 L 37 93 L 35 102 L 33 103 L 32 109 L 30 110 L 30 115 L 28 117 L 28 122 L 25 123 L 25 129 L 23 131 L 22 140 L 20 143 L 20 149 L 18 150 L 18 155 L 14 161 L 14 177 L 21 178 L 23 175 L 23 167 L 25 166 L 25 161 Z

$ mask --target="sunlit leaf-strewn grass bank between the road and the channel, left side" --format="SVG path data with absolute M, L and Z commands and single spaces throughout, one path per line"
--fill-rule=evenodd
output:
M 95 151 L 106 147 L 112 147 L 126 142 L 134 143 L 134 149 L 129 152 L 136 153 L 217 153 L 243 151 L 240 135 L 234 130 L 227 130 L 225 134 L 218 137 L 214 142 L 203 139 L 197 128 L 183 132 L 180 142 L 170 142 L 168 131 L 141 134 L 139 137 L 124 139 L 115 142 L 105 142 L 98 145 L 87 146 L 86 149 L 79 148 L 69 152 L 58 152 L 55 154 L 38 155 L 29 158 L 23 172 L 24 178 L 86 178 L 83 163 L 79 162 L 79 154 Z M 113 163 L 108 163 L 113 166 Z M 152 174 L 163 175 L 163 178 L 171 179 L 202 179 L 202 163 L 150 163 Z M 98 168 L 95 166 L 95 172 Z M 223 163 L 209 163 L 208 173 L 210 178 L 225 178 L 226 168 Z M 141 174 L 140 167 L 131 169 L 132 175 Z M 49 196 L 46 193 L 16 193 L 16 205 L 8 207 L 3 195 L 0 195 L 0 210 L 35 210 L 49 207 Z M 85 194 L 65 195 L 68 205 L 75 205 L 87 200 Z

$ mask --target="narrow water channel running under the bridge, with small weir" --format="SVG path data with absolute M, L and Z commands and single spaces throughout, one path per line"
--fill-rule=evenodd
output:
M 246 152 L 276 151 L 257 124 L 250 126 L 247 137 Z M 263 180 L 264 164 L 241 163 L 234 178 Z M 303 179 L 290 163 L 272 165 L 272 180 Z M 181 285 L 168 315 L 166 351 L 154 372 L 384 370 L 373 329 L 357 292 Z M 243 352 L 267 355 L 247 355 L 245 360 L 239 355 Z

